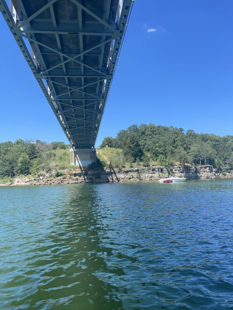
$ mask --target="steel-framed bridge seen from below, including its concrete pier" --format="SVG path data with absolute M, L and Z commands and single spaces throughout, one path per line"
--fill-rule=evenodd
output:
M 0 10 L 71 144 L 71 164 L 94 148 L 135 0 L 0 0 Z M 35 107 L 39 113 L 40 108 Z

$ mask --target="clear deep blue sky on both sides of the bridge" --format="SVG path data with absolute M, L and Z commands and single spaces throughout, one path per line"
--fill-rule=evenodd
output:
M 96 146 L 132 124 L 233 135 L 232 0 L 136 0 Z M 68 143 L 0 16 L 0 141 Z

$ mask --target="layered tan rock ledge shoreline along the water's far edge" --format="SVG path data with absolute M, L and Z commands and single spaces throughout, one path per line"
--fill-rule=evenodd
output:
M 169 176 L 185 177 L 186 179 L 217 179 L 232 178 L 233 171 L 221 174 L 213 166 L 175 166 L 168 170 L 166 167 L 150 166 L 130 169 L 95 169 L 66 172 L 63 177 L 15 178 L 14 182 L 0 184 L 0 186 L 15 185 L 47 185 L 47 184 L 79 184 L 92 182 L 132 182 L 132 181 L 158 181 Z

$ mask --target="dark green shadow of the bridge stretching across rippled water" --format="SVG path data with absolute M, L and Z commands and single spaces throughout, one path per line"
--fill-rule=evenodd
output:
M 121 277 L 124 272 L 123 268 L 113 269 L 105 262 L 112 255 L 112 248 L 101 245 L 105 228 L 103 214 L 98 210 L 101 200 L 98 191 L 84 184 L 71 186 L 69 190 L 63 188 L 61 195 L 67 200 L 53 209 L 50 228 L 25 258 L 24 276 L 33 275 L 36 282 L 21 298 L 12 301 L 11 306 L 123 309 L 117 296 L 119 290 L 110 279 Z

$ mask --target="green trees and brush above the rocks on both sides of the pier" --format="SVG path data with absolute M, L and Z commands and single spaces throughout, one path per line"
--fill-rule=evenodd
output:
M 108 147 L 104 147 L 108 146 Z M 101 164 L 95 168 L 121 169 L 125 166 L 148 166 L 150 163 L 171 167 L 181 164 L 213 165 L 219 171 L 233 168 L 233 136 L 197 134 L 173 126 L 132 125 L 106 137 L 98 150 Z M 0 143 L 0 179 L 31 174 L 34 177 L 54 170 L 73 170 L 70 151 L 64 142 L 50 144 L 17 139 Z

